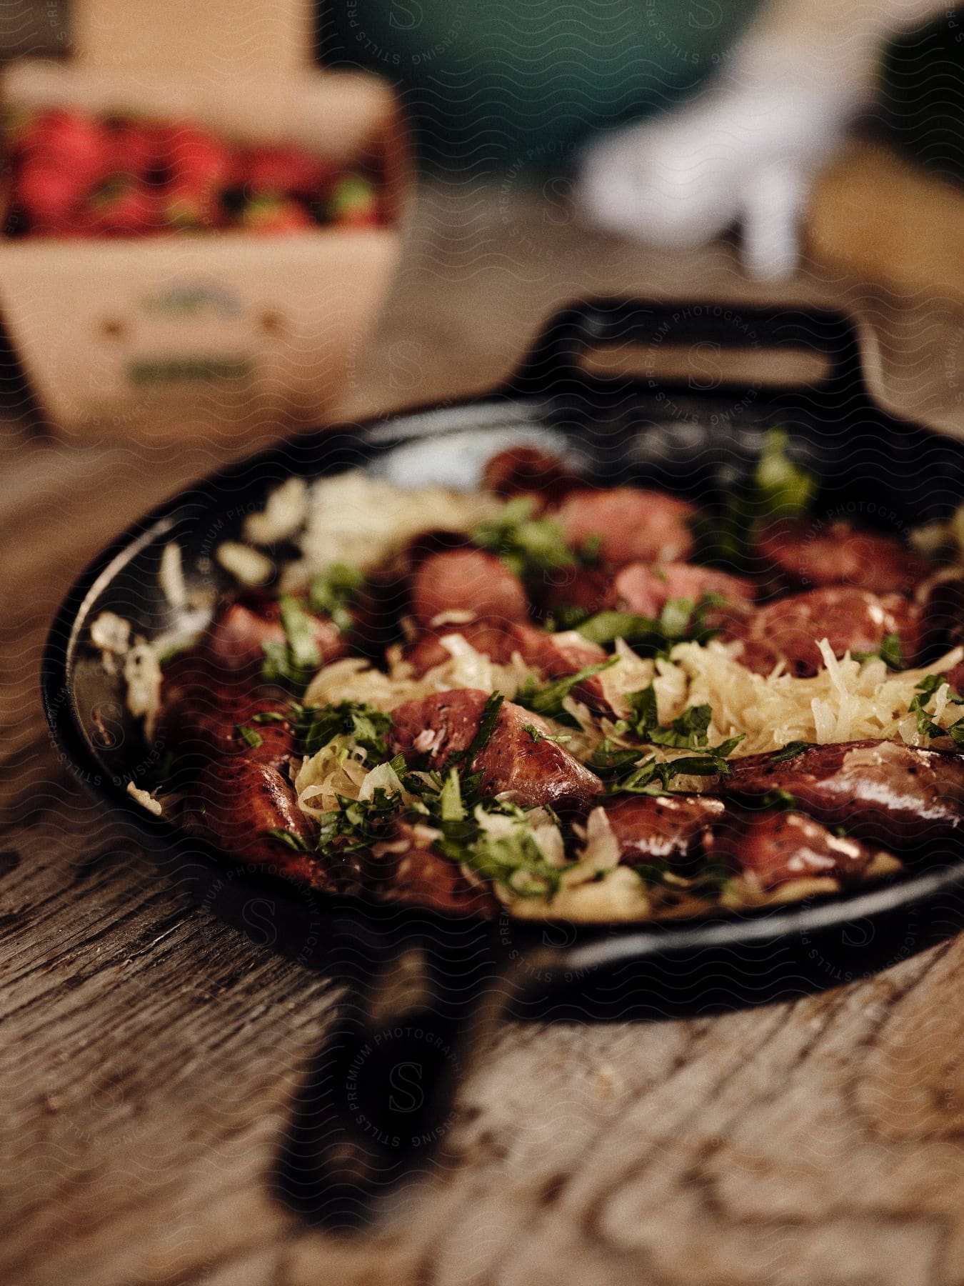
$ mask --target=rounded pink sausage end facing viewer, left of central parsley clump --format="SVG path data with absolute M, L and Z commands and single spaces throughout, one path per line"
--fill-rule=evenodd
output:
M 522 581 L 495 554 L 446 549 L 424 558 L 411 580 L 411 615 L 420 625 L 431 625 L 445 612 L 524 621 L 528 603 Z

